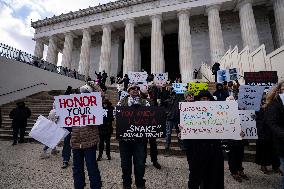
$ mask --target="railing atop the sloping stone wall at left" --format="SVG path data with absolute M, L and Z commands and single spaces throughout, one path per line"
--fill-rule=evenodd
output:
M 70 70 L 63 66 L 56 66 L 54 64 L 51 64 L 45 60 L 41 60 L 39 57 L 33 56 L 29 53 L 26 53 L 24 51 L 18 50 L 16 48 L 13 48 L 9 45 L 5 45 L 3 43 L 0 43 L 0 56 L 17 60 L 19 62 L 23 62 L 44 70 L 48 70 L 57 74 L 65 75 L 67 77 L 72 77 L 74 79 L 79 79 L 82 81 L 85 81 L 85 76 L 82 74 L 79 74 L 75 70 Z

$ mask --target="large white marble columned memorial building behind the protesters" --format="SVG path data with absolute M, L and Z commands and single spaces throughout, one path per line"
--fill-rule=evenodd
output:
M 119 0 L 32 22 L 34 55 L 95 78 L 129 71 L 181 74 L 233 46 L 284 45 L 283 0 Z

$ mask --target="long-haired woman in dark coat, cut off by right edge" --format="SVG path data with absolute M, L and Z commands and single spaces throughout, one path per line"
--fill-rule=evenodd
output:
M 280 169 L 284 171 L 284 81 L 280 82 L 267 97 L 267 124 L 272 130 L 276 153 L 280 159 Z M 281 179 L 284 189 L 284 177 Z

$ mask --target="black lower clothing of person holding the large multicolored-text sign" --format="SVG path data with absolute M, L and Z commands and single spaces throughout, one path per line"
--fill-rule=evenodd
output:
M 189 189 L 224 189 L 224 158 L 221 146 L 191 144 L 189 154 Z

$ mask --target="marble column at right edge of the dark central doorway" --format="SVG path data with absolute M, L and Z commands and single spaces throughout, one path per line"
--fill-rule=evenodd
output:
M 182 10 L 178 13 L 179 19 L 179 68 L 183 82 L 189 82 L 193 79 L 192 65 L 192 45 L 189 25 L 189 11 Z

